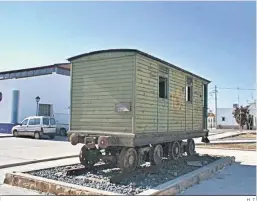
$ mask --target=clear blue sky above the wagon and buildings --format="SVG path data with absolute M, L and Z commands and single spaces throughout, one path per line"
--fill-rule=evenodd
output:
M 255 9 L 255 2 L 0 2 L 0 70 L 137 48 L 211 80 L 209 91 L 252 89 Z M 255 95 L 240 90 L 240 104 Z M 219 90 L 218 107 L 237 100 L 236 90 Z

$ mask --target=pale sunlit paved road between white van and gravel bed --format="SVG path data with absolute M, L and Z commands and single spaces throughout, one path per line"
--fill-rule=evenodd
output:
M 81 146 L 63 141 L 31 138 L 0 138 L 0 168 L 3 165 L 78 155 Z

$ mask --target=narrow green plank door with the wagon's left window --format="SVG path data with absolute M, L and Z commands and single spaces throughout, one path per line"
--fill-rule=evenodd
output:
M 169 69 L 159 67 L 158 133 L 168 132 L 169 121 Z

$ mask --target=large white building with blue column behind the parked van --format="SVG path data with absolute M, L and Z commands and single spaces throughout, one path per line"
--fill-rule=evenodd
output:
M 0 72 L 0 133 L 37 113 L 54 116 L 67 130 L 69 106 L 69 63 Z

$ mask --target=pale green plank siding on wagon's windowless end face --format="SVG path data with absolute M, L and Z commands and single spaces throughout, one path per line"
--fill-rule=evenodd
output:
M 132 132 L 132 111 L 116 103 L 133 102 L 135 56 L 102 53 L 72 63 L 71 130 Z

